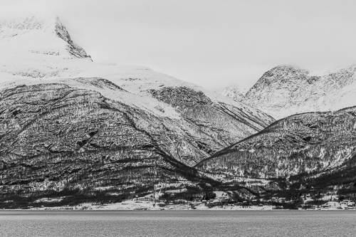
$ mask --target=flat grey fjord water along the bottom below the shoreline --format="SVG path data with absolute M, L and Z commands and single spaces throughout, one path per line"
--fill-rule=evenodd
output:
M 0 211 L 1 236 L 355 236 L 356 211 Z

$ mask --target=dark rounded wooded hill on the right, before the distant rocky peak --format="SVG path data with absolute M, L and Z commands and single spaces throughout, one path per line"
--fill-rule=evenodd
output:
M 338 185 L 337 189 L 348 186 L 353 190 L 356 107 L 278 120 L 197 167 L 225 179 L 280 179 L 285 186 L 303 181 L 315 188 Z

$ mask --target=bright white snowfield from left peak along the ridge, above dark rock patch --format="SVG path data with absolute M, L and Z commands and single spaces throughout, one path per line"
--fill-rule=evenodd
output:
M 138 95 L 149 90 L 186 86 L 204 92 L 214 102 L 246 107 L 198 85 L 178 80 L 150 68 L 101 65 L 75 44 L 57 16 L 36 15 L 0 22 L 0 88 L 59 78 L 105 78 Z M 9 82 L 7 82 L 9 81 Z

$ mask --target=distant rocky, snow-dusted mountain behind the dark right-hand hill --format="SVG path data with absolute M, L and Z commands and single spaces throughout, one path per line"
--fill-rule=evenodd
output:
M 292 66 L 268 70 L 243 102 L 279 119 L 300 112 L 340 110 L 356 105 L 356 65 L 315 74 Z

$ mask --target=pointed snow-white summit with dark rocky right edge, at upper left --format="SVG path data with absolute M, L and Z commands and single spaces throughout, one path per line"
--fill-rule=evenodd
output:
M 0 22 L 0 82 L 61 78 L 90 68 L 92 60 L 51 14 Z

